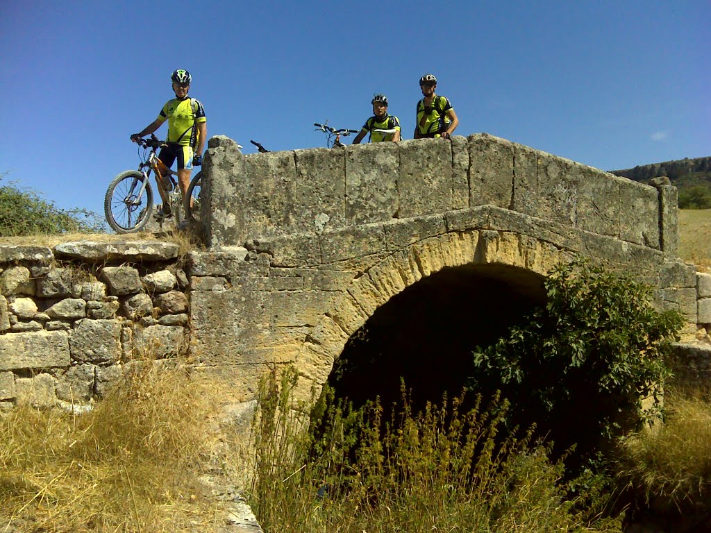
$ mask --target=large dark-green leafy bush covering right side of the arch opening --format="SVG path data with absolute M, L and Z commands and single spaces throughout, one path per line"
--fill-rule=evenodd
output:
M 545 287 L 545 308 L 474 353 L 471 388 L 500 390 L 510 426 L 537 424 L 557 456 L 577 446 L 567 464 L 580 466 L 609 437 L 658 414 L 665 355 L 683 318 L 656 311 L 651 287 L 582 261 L 557 266 Z M 645 398 L 653 404 L 642 409 Z

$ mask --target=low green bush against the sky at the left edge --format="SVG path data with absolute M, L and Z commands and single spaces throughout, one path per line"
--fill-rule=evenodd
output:
M 95 213 L 80 208 L 60 209 L 35 191 L 18 188 L 16 182 L 1 184 L 6 177 L 7 173 L 0 175 L 0 236 L 102 230 L 103 222 Z

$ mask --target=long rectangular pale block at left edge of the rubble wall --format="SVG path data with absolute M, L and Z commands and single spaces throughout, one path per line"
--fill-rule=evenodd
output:
M 0 335 L 0 371 L 70 365 L 69 337 L 63 331 Z

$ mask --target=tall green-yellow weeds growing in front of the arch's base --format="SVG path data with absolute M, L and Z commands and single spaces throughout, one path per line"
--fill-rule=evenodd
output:
M 461 397 L 445 398 L 415 413 L 403 394 L 381 425 L 377 401 L 354 411 L 327 390 L 309 418 L 295 384 L 290 371 L 260 387 L 250 498 L 267 533 L 620 531 L 600 517 L 599 492 L 571 497 L 592 477 L 564 483 L 530 431 L 499 438 L 503 400 L 460 412 Z

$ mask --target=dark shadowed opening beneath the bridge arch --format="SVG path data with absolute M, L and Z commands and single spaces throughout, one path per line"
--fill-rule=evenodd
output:
M 474 370 L 472 352 L 506 334 L 545 304 L 544 277 L 506 264 L 446 267 L 376 309 L 348 339 L 328 377 L 336 397 L 354 407 L 401 397 L 413 409 L 461 392 Z

